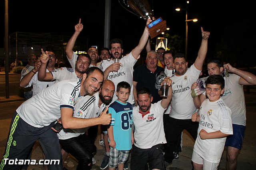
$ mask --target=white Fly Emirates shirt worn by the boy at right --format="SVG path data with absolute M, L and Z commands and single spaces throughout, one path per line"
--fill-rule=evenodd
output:
M 203 101 L 200 107 L 198 136 L 194 144 L 194 152 L 203 159 L 214 163 L 220 162 L 226 137 L 202 140 L 199 136 L 202 129 L 208 133 L 220 130 L 224 134 L 233 134 L 231 110 L 221 98 L 215 102 L 210 102 L 209 99 Z

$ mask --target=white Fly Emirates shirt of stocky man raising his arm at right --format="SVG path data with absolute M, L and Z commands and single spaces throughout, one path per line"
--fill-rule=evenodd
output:
M 194 64 L 181 76 L 172 76 L 172 109 L 170 117 L 174 119 L 191 119 L 196 111 L 191 96 L 191 85 L 196 82 L 201 70 L 196 69 Z

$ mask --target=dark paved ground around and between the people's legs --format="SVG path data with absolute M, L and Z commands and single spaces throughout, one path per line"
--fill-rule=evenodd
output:
M 246 91 L 246 88 L 245 88 Z M 255 170 L 256 169 L 256 87 L 250 87 L 250 94 L 245 93 L 246 109 L 247 109 L 247 125 L 244 136 L 244 144 L 238 156 L 238 170 Z M 10 99 L 0 97 L 0 159 L 4 154 L 7 135 L 9 131 L 10 121 L 15 109 L 24 101 L 20 97 L 12 96 Z M 92 166 L 92 170 L 100 170 L 100 164 L 104 157 L 104 147 L 99 145 L 100 131 L 96 139 L 97 153 L 94 156 L 96 164 Z M 180 152 L 178 160 L 174 160 L 167 170 L 191 170 L 191 157 L 193 152 L 194 141 L 190 135 L 184 130 L 183 134 L 183 151 Z M 32 159 L 42 159 L 42 149 L 38 142 L 34 145 L 32 151 Z M 129 162 L 130 163 L 130 162 Z M 220 162 L 219 170 L 224 170 L 226 164 L 226 150 L 224 150 Z M 77 161 L 71 155 L 66 159 L 65 167 L 69 170 L 75 170 Z M 108 168 L 106 168 L 108 169 Z M 40 165 L 30 165 L 28 170 L 42 170 Z M 130 164 L 129 164 L 130 170 Z

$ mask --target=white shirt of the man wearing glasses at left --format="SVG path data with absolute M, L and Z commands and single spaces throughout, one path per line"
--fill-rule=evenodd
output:
M 48 73 L 48 72 L 49 72 L 48 69 L 46 69 L 46 73 Z M 39 81 L 37 78 L 38 77 L 37 75 L 38 75 L 38 72 L 36 72 L 36 74 L 34 74 L 32 79 L 26 86 L 26 87 L 30 87 L 31 85 L 33 85 L 33 96 L 38 94 L 43 89 L 45 89 L 55 83 L 55 81 Z

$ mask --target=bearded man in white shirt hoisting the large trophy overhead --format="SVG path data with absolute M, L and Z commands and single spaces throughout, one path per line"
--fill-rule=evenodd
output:
M 147 20 L 147 24 L 151 22 L 151 19 Z M 114 63 L 113 60 L 103 60 L 100 69 L 104 71 L 104 79 L 108 79 L 114 82 L 115 87 L 121 81 L 126 81 L 131 86 L 131 91 L 133 91 L 132 75 L 133 66 L 140 57 L 140 52 L 144 49 L 148 41 L 148 28 L 145 27 L 144 32 L 140 38 L 139 44 L 126 56 L 122 57 L 123 53 L 123 43 L 120 39 L 113 39 L 110 41 L 110 54 L 113 59 L 120 59 L 120 63 Z M 114 95 L 112 102 L 117 100 L 117 96 Z M 128 99 L 129 103 L 134 104 L 134 98 L 132 93 Z

